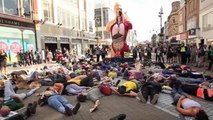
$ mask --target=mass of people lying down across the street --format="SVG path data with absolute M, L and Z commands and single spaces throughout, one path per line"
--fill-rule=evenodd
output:
M 186 52 L 188 48 L 183 47 Z M 184 52 L 184 48 L 180 50 Z M 133 49 L 134 52 L 137 50 L 138 48 Z M 68 53 L 66 51 L 68 50 L 65 50 L 64 54 L 61 51 L 58 52 L 58 60 L 60 56 L 66 56 Z M 150 54 L 153 50 L 149 45 L 146 51 L 148 59 L 151 60 Z M 51 56 L 48 52 L 47 50 L 47 57 Z M 162 54 L 162 51 L 159 53 Z M 134 53 L 133 57 L 135 57 Z M 129 96 L 142 103 L 149 102 L 155 105 L 158 103 L 161 92 L 164 92 L 174 99 L 171 104 L 184 119 L 208 120 L 205 108 L 202 108 L 200 103 L 191 96 L 213 101 L 213 78 L 193 71 L 184 64 L 185 57 L 181 59 L 183 64 L 165 65 L 163 60 L 159 60 L 154 67 L 148 69 L 143 62 L 115 63 L 104 59 L 104 56 L 102 61 L 98 58 L 94 60 L 91 56 L 89 58 L 89 60 L 70 59 L 69 66 L 59 61 L 58 65 L 45 66 L 41 70 L 13 71 L 8 78 L 2 77 L 4 80 L 0 80 L 1 117 L 8 120 L 27 119 L 31 115 L 36 115 L 38 105 L 48 105 L 62 114 L 71 116 L 78 113 L 82 106 L 81 102 L 86 100 L 93 101 L 94 105 L 89 109 L 93 113 L 101 105 L 101 98 L 112 94 Z M 50 59 L 51 57 L 47 59 L 48 62 L 51 61 Z M 46 89 L 41 93 L 36 93 L 40 87 Z M 30 90 L 26 93 L 17 92 L 20 89 Z M 34 93 L 38 96 L 38 101 L 29 103 L 25 112 L 9 116 L 9 113 L 23 108 L 25 98 Z M 74 104 L 75 101 L 69 101 L 64 95 L 76 96 L 78 102 Z M 124 120 L 125 118 L 126 115 L 121 114 L 112 117 L 111 120 Z

